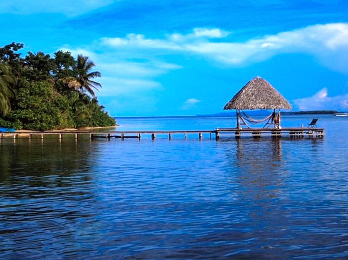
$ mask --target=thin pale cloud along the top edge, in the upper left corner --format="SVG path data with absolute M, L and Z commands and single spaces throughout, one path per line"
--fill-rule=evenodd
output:
M 33 13 L 61 13 L 66 16 L 76 16 L 100 7 L 111 5 L 114 2 L 115 0 L 5 0 L 1 3 L 0 13 L 20 15 Z

